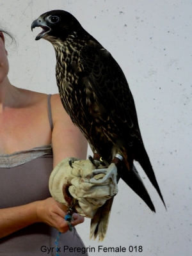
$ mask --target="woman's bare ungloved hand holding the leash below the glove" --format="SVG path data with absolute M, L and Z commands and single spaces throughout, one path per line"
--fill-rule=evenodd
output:
M 69 229 L 67 221 L 64 219 L 67 214 L 67 206 L 59 204 L 52 197 L 42 201 L 35 202 L 36 204 L 36 222 L 44 222 L 49 226 L 55 227 L 61 233 L 67 232 Z M 71 221 L 72 226 L 83 223 L 84 217 L 77 213 L 72 215 L 74 221 Z

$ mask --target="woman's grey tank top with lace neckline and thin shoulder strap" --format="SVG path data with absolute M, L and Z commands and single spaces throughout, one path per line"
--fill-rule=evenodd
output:
M 50 98 L 51 95 L 48 96 L 48 113 L 52 128 Z M 48 182 L 52 163 L 51 145 L 13 154 L 0 154 L 0 208 L 29 204 L 50 197 Z M 45 223 L 35 223 L 1 238 L 0 256 L 47 255 L 47 248 L 49 248 L 48 255 L 56 255 L 54 249 L 56 236 L 58 236 L 56 228 Z M 72 232 L 61 234 L 58 248 L 61 248 L 60 255 L 82 255 L 82 252 L 77 252 L 75 249 L 73 251 L 76 252 L 69 252 L 67 246 L 84 250 L 85 246 L 76 228 L 73 228 Z M 83 253 L 83 255 L 88 254 Z

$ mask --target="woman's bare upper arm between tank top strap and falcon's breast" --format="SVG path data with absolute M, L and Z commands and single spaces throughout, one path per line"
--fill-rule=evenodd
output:
M 88 143 L 66 113 L 58 94 L 51 96 L 54 166 L 66 157 L 86 159 Z

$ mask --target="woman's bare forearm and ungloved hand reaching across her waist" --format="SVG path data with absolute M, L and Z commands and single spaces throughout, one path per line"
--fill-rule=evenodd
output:
M 66 206 L 57 203 L 52 197 L 26 205 L 0 209 L 0 238 L 37 222 L 47 223 L 61 233 L 67 232 L 68 223 L 63 218 L 65 212 Z M 73 214 L 73 218 L 73 226 L 84 221 L 83 216 L 79 214 Z

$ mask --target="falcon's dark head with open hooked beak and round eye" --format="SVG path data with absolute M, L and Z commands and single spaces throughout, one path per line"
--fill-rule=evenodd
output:
M 60 39 L 65 41 L 72 32 L 83 30 L 79 21 L 70 13 L 63 10 L 53 10 L 46 12 L 31 24 L 33 28 L 41 27 L 43 30 L 39 33 L 35 40 L 44 38 L 46 40 Z

